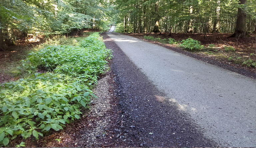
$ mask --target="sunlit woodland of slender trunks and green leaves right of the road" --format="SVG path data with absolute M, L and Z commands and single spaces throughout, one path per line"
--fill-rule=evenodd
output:
M 116 0 L 118 30 L 234 33 L 241 9 L 246 16 L 246 30 L 255 33 L 255 3 L 255 0 Z

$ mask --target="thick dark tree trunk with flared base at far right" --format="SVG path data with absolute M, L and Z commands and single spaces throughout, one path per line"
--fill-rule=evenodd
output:
M 246 4 L 247 0 L 239 0 L 239 4 Z M 234 34 L 229 37 L 248 37 L 250 36 L 246 31 L 246 12 L 241 8 L 238 8 L 236 28 Z

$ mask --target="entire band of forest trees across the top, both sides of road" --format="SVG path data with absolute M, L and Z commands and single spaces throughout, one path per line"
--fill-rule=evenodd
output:
M 74 29 L 117 32 L 256 33 L 256 0 L 1 0 L 0 50 Z

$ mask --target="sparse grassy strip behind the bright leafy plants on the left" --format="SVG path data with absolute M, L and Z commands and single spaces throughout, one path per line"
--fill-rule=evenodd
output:
M 26 69 L 23 68 L 20 61 L 26 59 L 30 52 L 36 52 L 51 45 L 79 46 L 79 42 L 92 33 L 94 32 L 83 32 L 83 34 L 78 37 L 66 37 L 65 35 L 58 35 L 46 39 L 43 43 L 19 43 L 18 46 L 12 47 L 9 51 L 0 52 L 0 83 L 18 80 L 19 78 L 24 78 L 29 75 L 26 72 Z

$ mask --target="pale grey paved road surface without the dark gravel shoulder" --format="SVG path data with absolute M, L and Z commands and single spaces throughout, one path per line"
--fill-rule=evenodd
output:
M 107 32 L 166 96 L 223 147 L 256 147 L 256 81 L 138 38 Z M 122 65 L 120 65 L 122 66 Z M 165 101 L 163 101 L 165 100 Z M 189 130 L 189 129 L 188 129 Z

